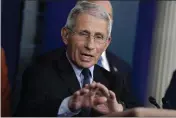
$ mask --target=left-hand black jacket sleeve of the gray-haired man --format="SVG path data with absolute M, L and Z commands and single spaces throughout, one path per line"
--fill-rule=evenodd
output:
M 51 79 L 57 77 L 56 73 L 47 67 L 27 68 L 23 74 L 21 99 L 15 116 L 56 117 L 59 106 L 66 97 L 59 87 L 54 88 L 55 83 Z M 58 86 L 62 88 L 62 85 Z M 60 96 L 55 95 L 55 91 Z

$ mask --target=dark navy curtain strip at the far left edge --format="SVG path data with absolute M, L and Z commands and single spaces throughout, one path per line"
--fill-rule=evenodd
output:
M 21 0 L 2 0 L 1 46 L 5 50 L 8 78 L 12 88 L 15 83 L 19 59 L 22 9 L 23 2 Z

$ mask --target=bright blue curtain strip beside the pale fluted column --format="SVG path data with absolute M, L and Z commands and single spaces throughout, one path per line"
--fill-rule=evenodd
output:
M 156 0 L 141 0 L 136 28 L 136 40 L 133 54 L 133 88 L 141 104 L 148 98 L 147 76 L 151 54 L 152 32 L 156 17 Z

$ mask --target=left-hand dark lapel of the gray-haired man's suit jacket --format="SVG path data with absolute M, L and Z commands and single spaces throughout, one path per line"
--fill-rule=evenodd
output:
M 57 60 L 57 71 L 59 76 L 64 81 L 65 86 L 67 86 L 71 94 L 73 94 L 75 91 L 80 89 L 80 84 L 72 66 L 66 57 L 66 52 L 64 51 L 62 53 L 63 54 Z

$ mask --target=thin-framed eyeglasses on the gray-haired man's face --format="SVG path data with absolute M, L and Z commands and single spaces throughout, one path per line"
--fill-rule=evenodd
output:
M 83 40 L 87 40 L 88 38 L 90 38 L 92 36 L 94 38 L 94 42 L 97 44 L 99 44 L 99 43 L 103 44 L 108 40 L 108 38 L 104 37 L 104 35 L 101 33 L 91 35 L 89 31 L 76 32 L 76 31 L 71 30 L 70 28 L 67 28 L 67 29 L 70 30 L 73 34 L 78 35 Z

